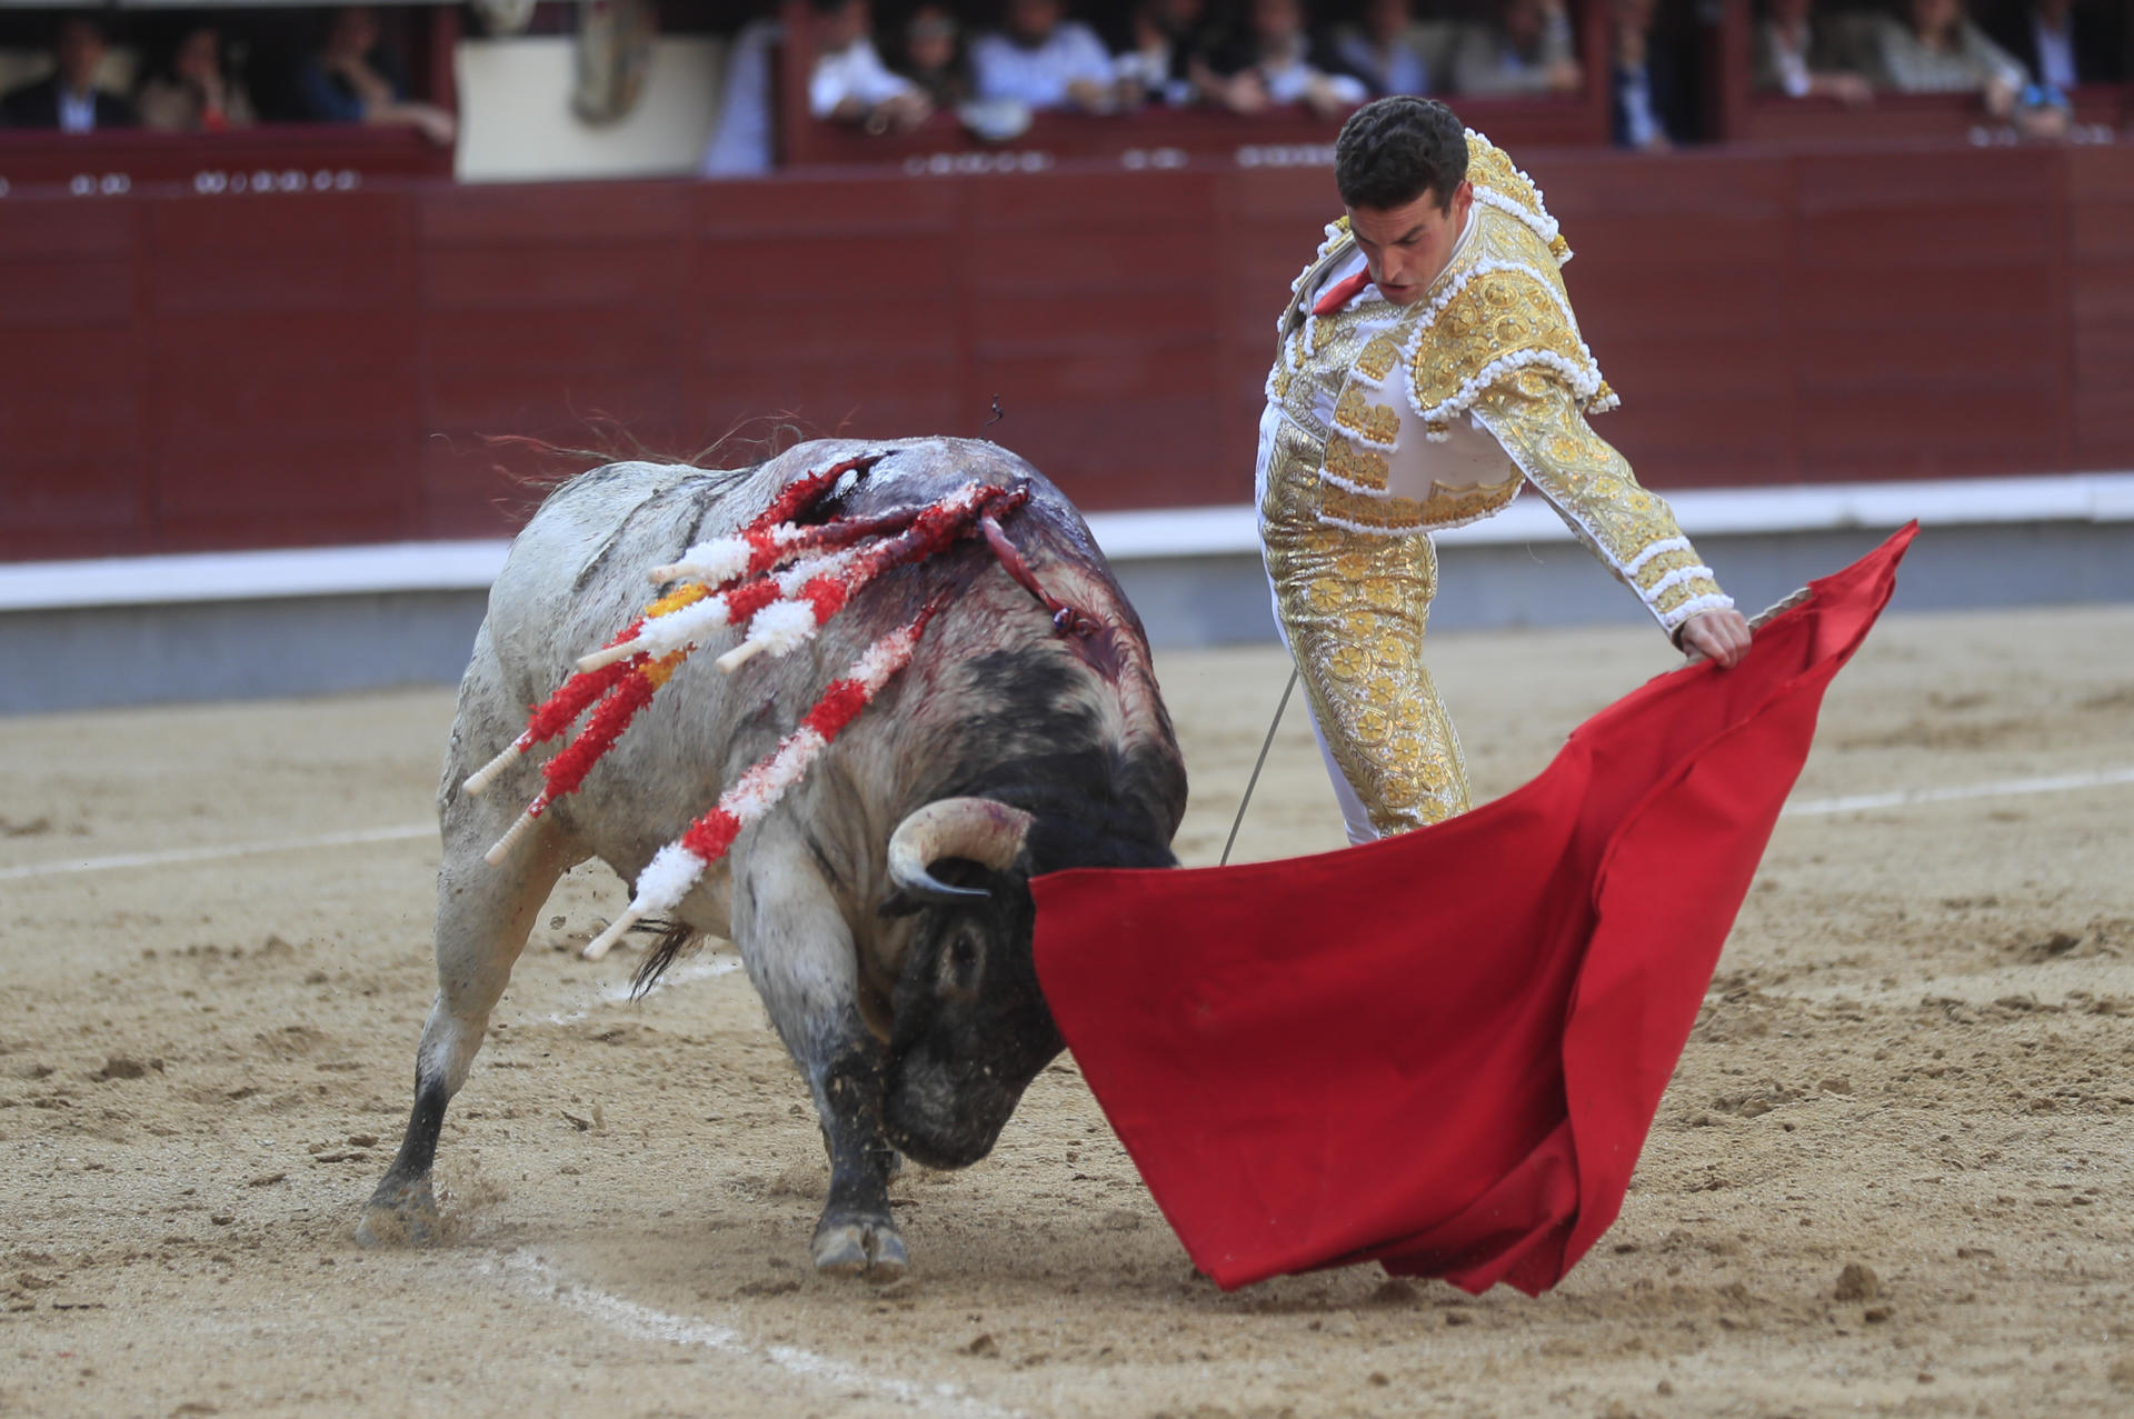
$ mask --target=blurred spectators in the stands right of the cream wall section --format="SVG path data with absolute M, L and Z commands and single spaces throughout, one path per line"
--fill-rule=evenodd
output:
M 1381 94 L 1573 96 L 1609 85 L 1613 137 L 1656 149 L 1694 137 L 1697 55 L 1686 4 L 1605 6 L 1607 53 L 1581 55 L 1564 0 L 1127 0 L 1082 19 L 1069 0 L 1001 0 L 967 30 L 947 0 L 877 23 L 871 0 L 813 0 L 815 117 L 875 132 L 941 109 L 986 137 L 1033 111 L 1131 113 L 1150 105 L 1231 113 L 1302 105 L 1321 117 Z M 2068 90 L 2125 81 L 2119 0 L 1765 0 L 1756 83 L 1773 96 L 1869 105 L 1878 92 L 1972 92 L 2025 132 L 2066 126 Z

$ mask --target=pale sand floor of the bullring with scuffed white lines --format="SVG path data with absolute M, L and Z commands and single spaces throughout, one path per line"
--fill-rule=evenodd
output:
M 1635 629 L 1434 653 L 1483 796 L 1667 664 Z M 1280 661 L 1161 672 L 1210 862 Z M 623 900 L 598 866 L 446 1122 L 455 1242 L 359 1250 L 450 708 L 0 721 L 0 1413 L 2134 1413 L 2134 608 L 1867 642 L 1797 800 L 2000 787 L 1780 824 L 1622 1221 L 1543 1300 L 1219 1293 L 1071 1061 L 992 1159 L 898 1182 L 909 1278 L 815 1278 L 819 1144 L 760 1005 L 730 954 L 625 1003 L 630 952 L 574 954 Z M 1336 843 L 1291 711 L 1240 856 Z

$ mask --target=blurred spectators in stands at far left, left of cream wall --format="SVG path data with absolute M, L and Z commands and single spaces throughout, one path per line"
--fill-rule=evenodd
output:
M 222 132 L 256 122 L 395 124 L 452 143 L 455 117 L 410 96 L 380 11 L 284 15 L 260 45 L 237 45 L 211 15 L 143 15 L 132 75 L 113 77 L 111 21 L 96 11 L 49 23 L 49 73 L 0 94 L 0 128 Z

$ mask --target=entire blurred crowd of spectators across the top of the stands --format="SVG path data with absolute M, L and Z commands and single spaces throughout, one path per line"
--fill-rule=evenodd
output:
M 869 132 L 954 113 L 1005 141 L 1041 111 L 1334 119 L 1379 94 L 1571 98 L 1603 83 L 1620 145 L 1694 141 L 1694 0 L 1581 2 L 1603 6 L 1598 55 L 1583 53 L 1592 32 L 1581 36 L 1566 0 L 881 0 L 879 13 L 873 0 L 809 0 L 807 100 L 817 119 Z M 732 21 L 743 4 L 721 13 Z M 770 164 L 777 11 L 758 4 L 728 45 L 706 173 Z M 2125 11 L 2123 0 L 1758 0 L 1754 81 L 1773 98 L 1844 105 L 1965 92 L 2021 132 L 2053 137 L 2070 90 L 2128 81 Z M 450 143 L 452 113 L 410 94 L 405 47 L 382 15 L 405 11 L 254 11 L 233 36 L 228 15 L 132 11 L 134 64 L 113 79 L 107 19 L 62 13 L 41 36 L 49 75 L 0 94 L 0 126 L 397 124 Z

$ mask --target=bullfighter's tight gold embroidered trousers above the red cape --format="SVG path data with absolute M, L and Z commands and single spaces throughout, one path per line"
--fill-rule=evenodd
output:
M 1334 768 L 1381 836 L 1464 813 L 1460 738 L 1423 668 L 1436 548 L 1426 533 L 1321 523 L 1319 440 L 1287 418 L 1274 440 L 1259 508 L 1268 578 Z

